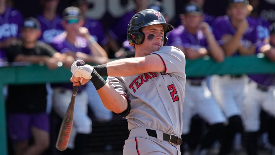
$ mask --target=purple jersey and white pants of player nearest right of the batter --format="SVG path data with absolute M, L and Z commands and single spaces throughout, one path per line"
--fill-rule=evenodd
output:
M 187 32 L 181 25 L 171 31 L 168 37 L 171 46 L 194 50 L 208 49 L 207 40 L 201 30 L 194 35 Z M 205 77 L 186 78 L 185 93 L 182 134 L 190 132 L 191 118 L 195 114 L 199 114 L 210 125 L 225 122 L 221 108 L 207 87 Z

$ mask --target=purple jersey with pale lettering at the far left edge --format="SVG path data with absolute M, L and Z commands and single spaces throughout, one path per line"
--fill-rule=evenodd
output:
M 19 28 L 23 24 L 23 18 L 18 10 L 6 7 L 5 13 L 0 15 L 0 41 L 10 37 L 19 37 Z M 1 49 L 2 57 L 6 57 L 5 50 Z

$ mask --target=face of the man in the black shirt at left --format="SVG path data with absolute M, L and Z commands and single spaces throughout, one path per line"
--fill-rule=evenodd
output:
M 35 42 L 40 37 L 41 31 L 33 28 L 22 28 L 21 35 L 23 42 Z

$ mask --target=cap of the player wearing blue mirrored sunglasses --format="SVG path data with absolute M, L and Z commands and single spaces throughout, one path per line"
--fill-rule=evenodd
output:
M 80 9 L 77 7 L 67 7 L 62 13 L 62 20 L 77 19 L 81 20 L 82 15 Z

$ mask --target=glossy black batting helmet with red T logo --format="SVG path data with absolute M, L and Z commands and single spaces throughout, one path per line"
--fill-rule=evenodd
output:
M 129 40 L 129 44 L 134 46 L 134 44 L 139 45 L 144 41 L 144 33 L 140 30 L 140 28 L 161 24 L 164 30 L 164 43 L 166 45 L 168 38 L 166 37 L 167 32 L 173 30 L 173 26 L 167 24 L 164 17 L 159 11 L 154 9 L 146 9 L 142 10 L 139 13 L 136 13 L 130 20 L 127 28 L 127 38 Z

